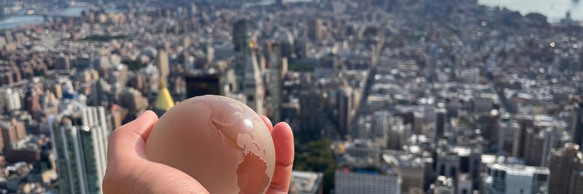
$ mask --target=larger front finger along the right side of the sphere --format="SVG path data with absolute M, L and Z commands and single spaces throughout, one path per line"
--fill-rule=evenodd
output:
M 289 125 L 280 122 L 273 127 L 271 136 L 275 147 L 275 171 L 268 193 L 287 193 L 294 156 L 293 132 Z

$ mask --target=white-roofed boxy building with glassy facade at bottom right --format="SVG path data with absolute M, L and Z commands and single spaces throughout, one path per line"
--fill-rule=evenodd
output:
M 488 164 L 482 174 L 484 194 L 545 193 L 549 168 L 517 164 Z

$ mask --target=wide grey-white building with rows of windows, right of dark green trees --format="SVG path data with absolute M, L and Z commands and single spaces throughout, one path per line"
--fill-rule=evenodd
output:
M 336 194 L 401 193 L 401 176 L 392 168 L 341 167 L 334 174 Z

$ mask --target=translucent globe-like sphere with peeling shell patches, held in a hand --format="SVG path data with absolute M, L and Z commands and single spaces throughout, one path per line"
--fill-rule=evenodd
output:
M 150 132 L 146 153 L 210 193 L 265 193 L 275 168 L 273 139 L 261 117 L 223 96 L 194 97 L 170 108 Z

